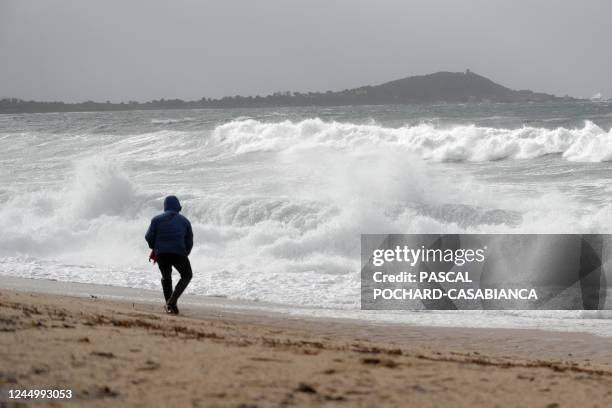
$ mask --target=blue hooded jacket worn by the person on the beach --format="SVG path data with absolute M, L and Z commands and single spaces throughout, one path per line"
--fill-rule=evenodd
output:
M 145 239 L 149 248 L 159 254 L 187 256 L 193 247 L 191 223 L 179 212 L 181 204 L 176 196 L 164 200 L 164 212 L 151 220 Z

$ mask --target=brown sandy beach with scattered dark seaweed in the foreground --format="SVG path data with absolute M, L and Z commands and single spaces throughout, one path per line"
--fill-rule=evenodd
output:
M 60 296 L 9 282 L 0 290 L 3 406 L 28 403 L 9 400 L 9 389 L 44 388 L 73 392 L 39 401 L 52 406 L 612 404 L 609 338 L 289 318 L 222 304 L 169 316 L 74 285 Z

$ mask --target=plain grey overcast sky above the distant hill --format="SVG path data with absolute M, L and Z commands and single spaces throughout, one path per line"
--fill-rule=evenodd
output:
M 0 0 L 0 97 L 341 90 L 436 71 L 612 96 L 609 0 Z

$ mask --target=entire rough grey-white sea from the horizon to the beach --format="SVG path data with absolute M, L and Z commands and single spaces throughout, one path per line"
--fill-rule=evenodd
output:
M 612 233 L 611 127 L 592 102 L 0 115 L 0 274 L 159 288 L 143 236 L 176 194 L 189 293 L 359 315 L 362 233 Z

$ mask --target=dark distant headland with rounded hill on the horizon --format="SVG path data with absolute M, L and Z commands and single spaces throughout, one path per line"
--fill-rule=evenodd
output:
M 549 102 L 577 100 L 530 90 L 515 91 L 488 78 L 465 72 L 436 72 L 411 76 L 375 86 L 343 91 L 275 92 L 268 96 L 226 96 L 196 101 L 158 99 L 149 102 L 81 103 L 0 100 L 0 113 L 90 112 L 142 109 L 260 108 L 292 106 L 396 105 L 429 103 Z

